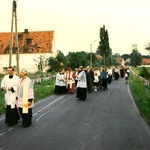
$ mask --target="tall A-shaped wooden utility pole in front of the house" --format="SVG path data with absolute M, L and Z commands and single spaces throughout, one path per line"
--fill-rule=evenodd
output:
M 15 45 L 14 45 L 14 20 L 15 20 Z M 16 61 L 17 61 L 17 74 L 19 74 L 19 47 L 18 47 L 18 31 L 17 31 L 17 3 L 13 0 L 12 7 L 12 21 L 11 21 L 11 36 L 10 36 L 10 51 L 9 51 L 9 66 L 12 65 L 12 53 L 13 49 L 16 51 Z

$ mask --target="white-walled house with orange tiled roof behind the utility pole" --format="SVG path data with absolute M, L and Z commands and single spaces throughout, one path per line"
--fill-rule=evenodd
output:
M 0 73 L 4 73 L 9 65 L 10 32 L 0 33 Z M 12 66 L 17 66 L 15 33 L 13 33 Z M 38 70 L 36 62 L 41 55 L 46 58 L 55 57 L 54 31 L 32 31 L 25 29 L 18 33 L 19 68 L 25 68 L 28 72 Z

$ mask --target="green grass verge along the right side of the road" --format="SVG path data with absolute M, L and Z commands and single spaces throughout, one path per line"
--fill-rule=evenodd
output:
M 130 88 L 141 116 L 150 125 L 150 87 L 131 73 Z

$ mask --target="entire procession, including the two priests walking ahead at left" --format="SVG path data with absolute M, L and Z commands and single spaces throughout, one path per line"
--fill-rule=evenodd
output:
M 34 88 L 32 80 L 27 76 L 27 70 L 22 69 L 19 76 L 14 74 L 14 68 L 8 67 L 8 74 L 1 81 L 1 89 L 5 93 L 6 117 L 5 123 L 13 126 L 22 118 L 22 126 L 32 124 L 32 108 L 34 106 Z M 125 78 L 128 83 L 130 70 L 128 67 L 92 68 L 80 66 L 60 69 L 56 75 L 55 94 L 74 94 L 76 98 L 85 101 L 87 92 L 99 89 L 108 90 L 112 80 Z

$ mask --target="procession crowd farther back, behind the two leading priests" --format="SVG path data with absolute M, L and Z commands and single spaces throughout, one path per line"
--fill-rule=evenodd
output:
M 83 66 L 80 66 L 74 70 L 71 68 L 60 69 L 56 75 L 55 94 L 73 94 L 76 87 L 76 98 L 84 101 L 87 98 L 86 92 L 96 92 L 99 89 L 105 91 L 112 80 L 118 80 L 120 77 L 125 78 L 127 84 L 129 72 L 129 67 L 123 66 L 108 68 L 92 68 L 90 66 L 83 68 Z

